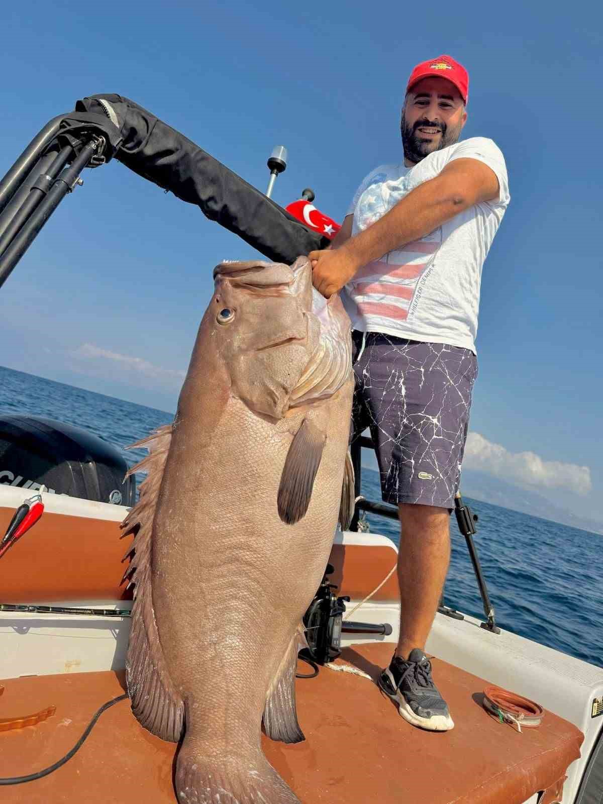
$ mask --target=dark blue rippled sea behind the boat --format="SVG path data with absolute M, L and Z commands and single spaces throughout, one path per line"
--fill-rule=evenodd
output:
M 126 445 L 173 414 L 0 367 L 0 412 L 46 416 L 108 441 L 129 466 L 145 450 Z M 362 493 L 379 501 L 379 474 L 362 472 Z M 498 625 L 603 667 L 603 535 L 464 498 L 478 515 L 474 542 Z M 397 523 L 367 515 L 370 531 L 398 543 Z M 445 605 L 484 619 L 464 537 L 451 520 Z M 420 538 L 420 535 L 417 535 Z

